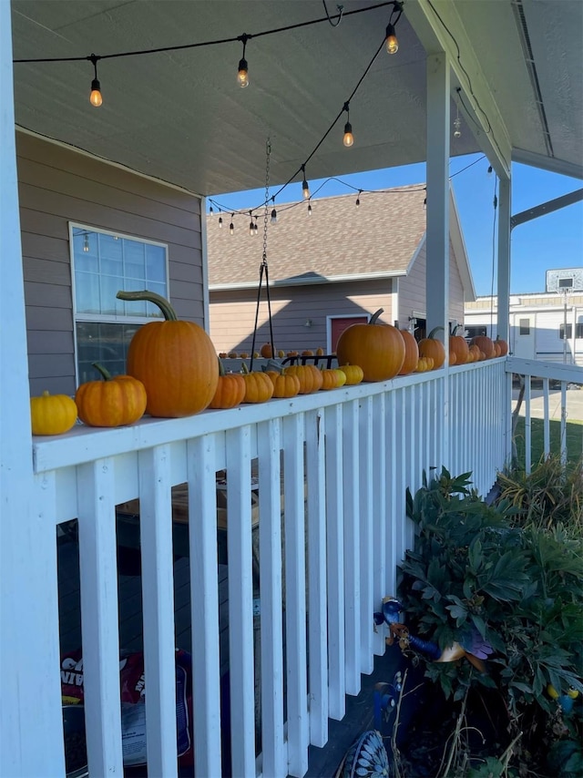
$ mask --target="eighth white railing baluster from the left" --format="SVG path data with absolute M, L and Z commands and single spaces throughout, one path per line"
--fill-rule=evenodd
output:
M 325 411 L 328 557 L 328 682 L 332 719 L 346 710 L 344 678 L 343 406 Z

